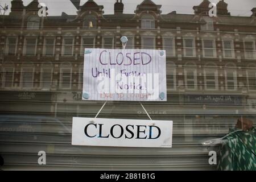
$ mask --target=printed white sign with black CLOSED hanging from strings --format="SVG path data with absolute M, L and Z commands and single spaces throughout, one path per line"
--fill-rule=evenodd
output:
M 73 118 L 72 145 L 172 147 L 172 121 Z

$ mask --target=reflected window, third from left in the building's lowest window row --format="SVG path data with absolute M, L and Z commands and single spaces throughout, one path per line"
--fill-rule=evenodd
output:
M 41 87 L 43 90 L 49 90 L 52 84 L 52 68 L 42 68 Z

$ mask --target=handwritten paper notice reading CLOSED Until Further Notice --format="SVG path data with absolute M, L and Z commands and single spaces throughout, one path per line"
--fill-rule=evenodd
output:
M 83 100 L 167 101 L 166 51 L 86 48 L 82 92 Z

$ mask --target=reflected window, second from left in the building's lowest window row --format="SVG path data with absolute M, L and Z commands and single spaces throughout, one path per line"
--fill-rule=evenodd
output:
M 33 68 L 23 68 L 22 69 L 22 88 L 32 88 L 33 87 L 33 77 L 34 69 Z

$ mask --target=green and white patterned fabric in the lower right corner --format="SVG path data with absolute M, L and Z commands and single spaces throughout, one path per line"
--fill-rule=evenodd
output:
M 256 171 L 256 133 L 254 127 L 245 132 L 230 130 L 223 138 L 218 170 Z

